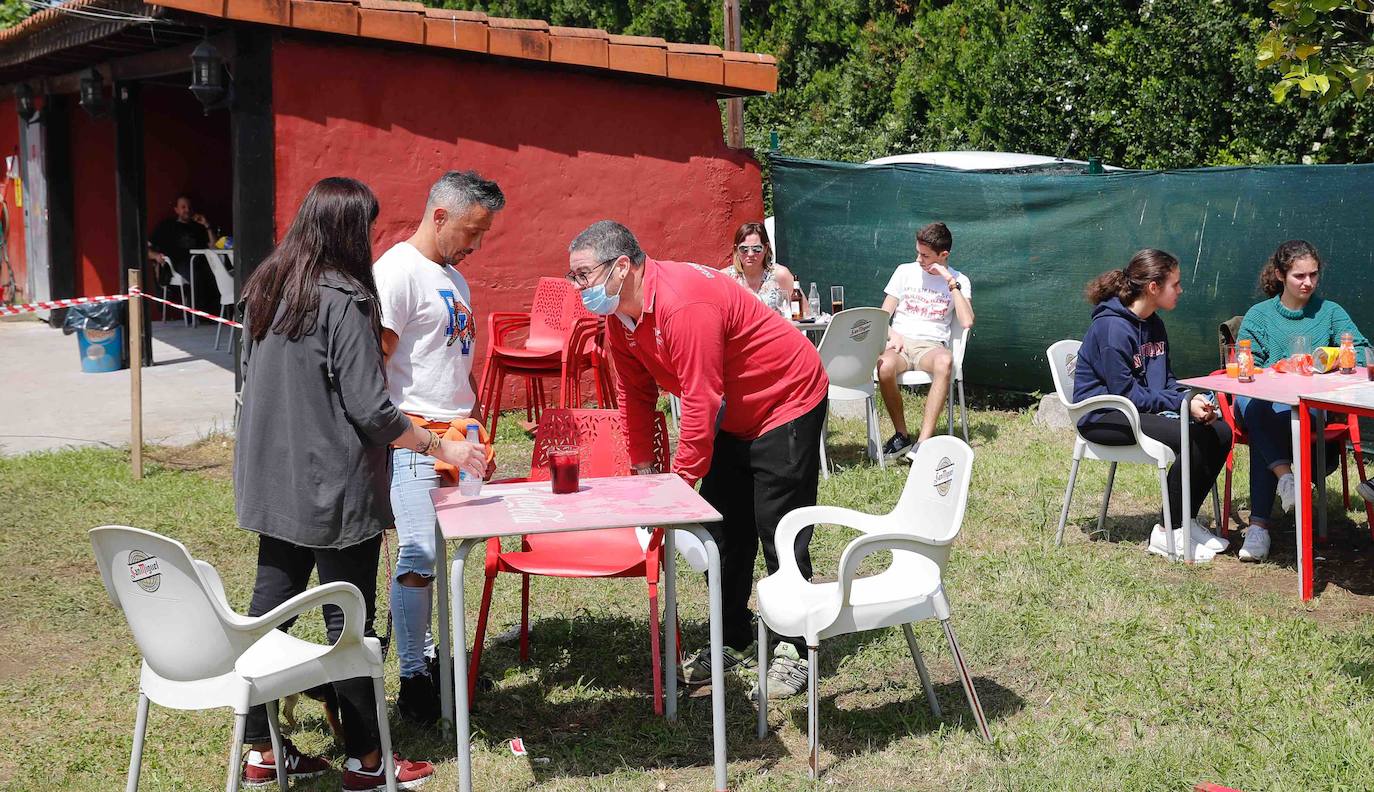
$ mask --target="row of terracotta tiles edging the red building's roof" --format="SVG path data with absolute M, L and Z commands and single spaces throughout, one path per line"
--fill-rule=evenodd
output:
M 65 10 L 100 7 L 104 1 L 71 0 L 62 10 L 38 11 L 19 25 L 0 30 L 0 44 L 19 41 L 62 22 L 67 18 Z M 771 55 L 677 44 L 654 36 L 550 26 L 543 19 L 429 8 L 403 0 L 158 0 L 155 6 L 147 6 L 150 12 L 157 7 L 280 28 L 647 74 L 714 85 L 734 95 L 778 89 L 778 62 Z

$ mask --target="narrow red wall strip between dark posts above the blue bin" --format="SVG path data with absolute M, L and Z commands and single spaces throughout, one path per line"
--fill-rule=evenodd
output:
M 118 221 L 114 213 L 114 118 L 92 118 L 71 102 L 71 177 L 77 296 L 120 290 Z

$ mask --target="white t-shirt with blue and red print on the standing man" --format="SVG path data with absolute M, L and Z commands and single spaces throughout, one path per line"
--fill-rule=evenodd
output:
M 469 374 L 477 319 L 467 280 L 440 267 L 409 242 L 372 265 L 382 327 L 400 342 L 386 363 L 386 393 L 405 412 L 430 421 L 466 418 L 477 403 Z

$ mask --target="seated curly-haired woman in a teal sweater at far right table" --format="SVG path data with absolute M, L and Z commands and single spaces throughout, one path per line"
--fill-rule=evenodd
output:
M 1237 337 L 1238 341 L 1250 340 L 1256 366 L 1272 366 L 1287 358 L 1298 336 L 1307 338 L 1305 352 L 1311 352 L 1318 346 L 1340 346 L 1342 333 L 1355 337 L 1356 355 L 1363 360 L 1369 341 L 1345 308 L 1316 296 L 1320 275 L 1322 257 L 1301 239 L 1279 245 L 1270 256 L 1260 271 L 1260 289 L 1270 298 L 1245 312 Z M 1250 439 L 1250 527 L 1245 529 L 1241 561 L 1263 561 L 1270 554 L 1274 495 L 1278 494 L 1285 512 L 1292 512 L 1297 500 L 1292 408 L 1241 396 L 1235 400 L 1235 411 Z M 1340 459 L 1340 447 L 1329 447 L 1326 459 L 1329 466 Z M 1356 491 L 1366 500 L 1374 500 L 1374 487 L 1369 481 L 1360 481 Z

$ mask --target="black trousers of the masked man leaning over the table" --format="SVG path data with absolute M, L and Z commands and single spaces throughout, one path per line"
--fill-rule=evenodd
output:
M 816 505 L 824 421 L 826 402 L 822 400 L 807 414 L 754 440 L 716 433 L 716 450 L 710 470 L 701 481 L 701 496 L 723 518 L 708 529 L 720 546 L 724 639 L 735 649 L 743 649 L 754 639 L 749 594 L 754 586 L 758 546 L 763 544 L 764 565 L 772 575 L 778 571 L 778 549 L 774 546 L 778 521 L 793 509 Z M 785 551 L 796 553 L 797 566 L 809 580 L 811 528 L 802 529 L 796 546 Z M 789 638 L 789 642 L 805 652 L 800 638 Z

